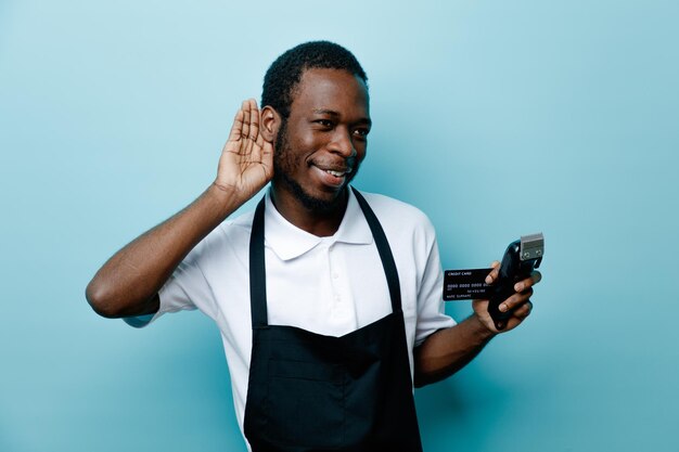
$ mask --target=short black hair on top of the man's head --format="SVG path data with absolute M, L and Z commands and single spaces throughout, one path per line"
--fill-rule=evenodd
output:
M 298 44 L 276 59 L 264 76 L 261 107 L 273 107 L 283 118 L 290 116 L 293 93 L 307 69 L 343 69 L 368 85 L 368 76 L 351 52 L 330 41 Z

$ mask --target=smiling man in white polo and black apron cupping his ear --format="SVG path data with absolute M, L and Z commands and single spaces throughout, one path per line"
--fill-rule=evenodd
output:
M 447 377 L 499 333 L 487 301 L 459 324 L 445 315 L 426 217 L 349 188 L 371 127 L 350 52 L 289 50 L 261 105 L 238 112 L 214 183 L 115 254 L 87 298 L 137 326 L 181 309 L 214 319 L 253 451 L 421 451 L 413 384 Z M 254 215 L 225 221 L 269 182 Z M 529 314 L 539 280 L 502 304 L 505 331 Z

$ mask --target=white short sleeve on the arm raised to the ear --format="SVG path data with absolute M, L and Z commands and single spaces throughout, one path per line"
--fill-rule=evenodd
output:
M 202 270 L 206 263 L 205 260 L 209 258 L 206 249 L 209 246 L 207 243 L 212 240 L 214 240 L 214 234 L 210 233 L 187 255 L 161 287 L 158 290 L 161 306 L 155 314 L 124 318 L 125 323 L 140 328 L 165 313 L 194 309 L 201 309 L 215 319 L 215 299 Z

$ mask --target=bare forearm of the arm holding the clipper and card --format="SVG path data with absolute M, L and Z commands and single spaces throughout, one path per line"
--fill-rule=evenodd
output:
M 452 375 L 474 359 L 494 336 L 476 314 L 432 334 L 414 350 L 414 386 Z

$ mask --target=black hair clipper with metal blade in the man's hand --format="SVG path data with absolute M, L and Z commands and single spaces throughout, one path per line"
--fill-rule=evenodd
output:
M 488 304 L 488 313 L 498 330 L 504 330 L 507 320 L 512 317 L 511 311 L 500 312 L 500 304 L 514 294 L 514 284 L 530 276 L 534 269 L 540 267 L 545 254 L 545 237 L 542 233 L 522 235 L 507 247 L 500 273 L 496 280 L 492 296 Z

